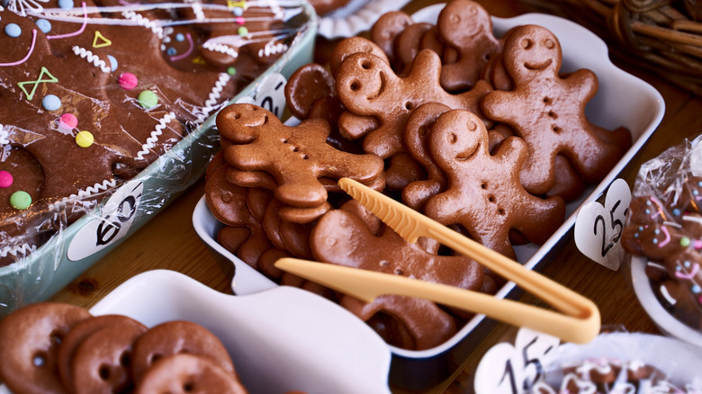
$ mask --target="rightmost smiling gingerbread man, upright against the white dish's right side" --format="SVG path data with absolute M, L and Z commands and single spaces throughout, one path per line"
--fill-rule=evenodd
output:
M 604 178 L 624 151 L 599 139 L 585 116 L 585 105 L 598 88 L 594 73 L 581 69 L 559 76 L 559 41 L 536 25 L 513 29 L 502 57 L 515 87 L 487 94 L 482 110 L 491 119 L 508 123 L 527 142 L 529 156 L 520 176 L 527 190 L 542 194 L 554 186 L 558 154 L 571 161 L 585 182 Z

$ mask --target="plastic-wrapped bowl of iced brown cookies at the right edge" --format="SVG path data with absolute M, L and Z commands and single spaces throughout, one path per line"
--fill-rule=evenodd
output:
M 621 237 L 644 309 L 672 334 L 663 322 L 670 314 L 692 333 L 681 339 L 697 344 L 702 330 L 700 140 L 686 139 L 641 166 Z M 657 309 L 664 313 L 653 312 Z

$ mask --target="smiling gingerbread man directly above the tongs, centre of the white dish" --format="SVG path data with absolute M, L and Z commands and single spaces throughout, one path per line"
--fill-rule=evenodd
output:
M 461 224 L 477 242 L 515 258 L 509 230 L 543 243 L 563 223 L 565 204 L 557 197 L 537 198 L 519 183 L 527 159 L 520 139 L 505 139 L 492 155 L 489 145 L 487 130 L 473 113 L 452 110 L 437 118 L 428 147 L 446 173 L 447 187 L 429 198 L 425 214 L 445 225 Z

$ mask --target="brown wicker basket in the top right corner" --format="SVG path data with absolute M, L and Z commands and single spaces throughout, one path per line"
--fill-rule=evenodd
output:
M 521 1 L 587 27 L 613 59 L 702 95 L 702 0 Z

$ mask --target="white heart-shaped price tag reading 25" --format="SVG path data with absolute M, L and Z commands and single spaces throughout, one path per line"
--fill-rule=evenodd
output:
M 629 215 L 631 190 L 623 179 L 617 179 L 608 189 L 605 206 L 590 201 L 578 211 L 575 219 L 575 245 L 591 260 L 617 271 L 624 258 L 619 243 Z

